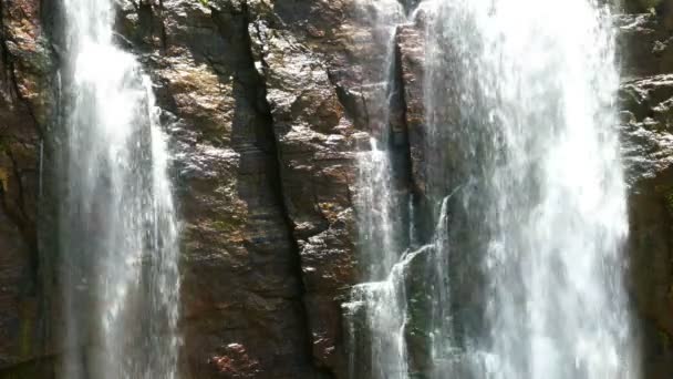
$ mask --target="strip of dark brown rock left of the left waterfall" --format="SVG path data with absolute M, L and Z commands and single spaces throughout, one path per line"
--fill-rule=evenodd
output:
M 53 72 L 44 20 L 38 1 L 0 1 L 0 376 L 48 373 L 35 365 L 50 317 L 37 227 Z

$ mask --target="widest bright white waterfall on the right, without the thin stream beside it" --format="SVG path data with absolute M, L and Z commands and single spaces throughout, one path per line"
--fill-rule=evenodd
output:
M 608 8 L 422 7 L 427 195 L 438 208 L 460 188 L 438 255 L 449 256 L 447 285 L 435 290 L 466 303 L 434 303 L 455 308 L 460 334 L 432 339 L 433 377 L 447 377 L 437 362 L 456 347 L 467 377 L 639 377 L 622 284 L 628 221 Z

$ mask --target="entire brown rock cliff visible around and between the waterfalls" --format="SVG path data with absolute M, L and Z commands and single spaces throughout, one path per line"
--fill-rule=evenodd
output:
M 58 122 L 53 3 L 0 0 L 0 378 L 50 378 L 59 356 L 40 158 Z M 618 21 L 620 101 L 645 377 L 670 378 L 673 33 L 656 7 Z M 354 153 L 376 132 L 367 105 L 390 48 L 375 21 L 354 0 L 123 0 L 117 14 L 173 141 L 184 376 L 345 378 L 341 303 L 360 280 Z M 393 41 L 391 121 L 398 176 L 421 206 L 422 19 Z

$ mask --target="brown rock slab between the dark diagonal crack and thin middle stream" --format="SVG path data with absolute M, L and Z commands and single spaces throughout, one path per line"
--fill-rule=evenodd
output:
M 313 358 L 340 366 L 339 296 L 354 281 L 352 123 L 324 66 L 286 30 L 250 25 L 267 86 L 284 204 L 299 245 Z

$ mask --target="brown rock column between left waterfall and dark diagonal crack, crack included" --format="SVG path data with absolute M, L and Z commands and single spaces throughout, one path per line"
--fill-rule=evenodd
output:
M 173 0 L 157 16 L 164 35 L 152 41 L 163 45 L 147 70 L 176 141 L 185 375 L 312 378 L 298 256 L 247 9 Z

